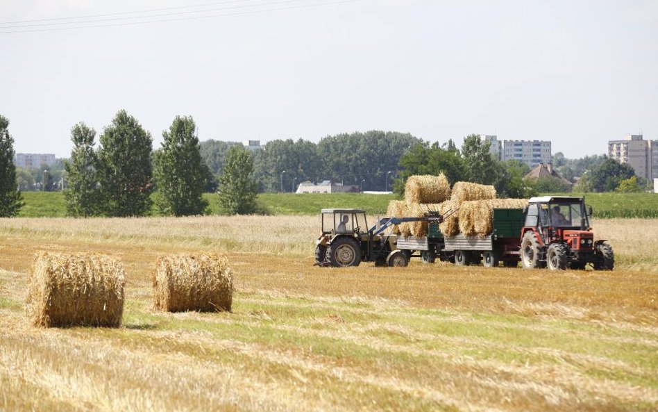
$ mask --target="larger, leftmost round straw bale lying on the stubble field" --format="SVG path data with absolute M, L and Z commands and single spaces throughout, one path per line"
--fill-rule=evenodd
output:
M 41 327 L 119 327 L 124 278 L 121 263 L 108 256 L 39 252 L 28 279 L 28 318 Z

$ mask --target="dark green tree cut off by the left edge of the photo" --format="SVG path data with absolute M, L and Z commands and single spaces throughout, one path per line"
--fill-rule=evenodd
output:
M 23 195 L 17 189 L 14 165 L 14 138 L 9 134 L 9 120 L 0 115 L 0 217 L 12 217 L 23 207 Z

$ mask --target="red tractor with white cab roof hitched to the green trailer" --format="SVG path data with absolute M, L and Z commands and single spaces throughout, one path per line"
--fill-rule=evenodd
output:
M 523 267 L 613 270 L 614 253 L 605 240 L 594 241 L 591 206 L 583 197 L 532 197 L 521 229 Z

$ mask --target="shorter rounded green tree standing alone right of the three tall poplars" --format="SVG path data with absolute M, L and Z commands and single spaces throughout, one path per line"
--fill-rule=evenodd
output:
M 244 147 L 231 147 L 219 177 L 219 205 L 228 215 L 253 213 L 257 192 L 251 154 Z

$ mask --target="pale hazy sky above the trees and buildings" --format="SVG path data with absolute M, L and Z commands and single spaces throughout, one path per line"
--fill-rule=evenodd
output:
M 0 2 L 19 153 L 69 157 L 71 126 L 100 134 L 121 109 L 154 149 L 176 115 L 201 140 L 262 144 L 478 133 L 580 158 L 658 139 L 658 1 Z

